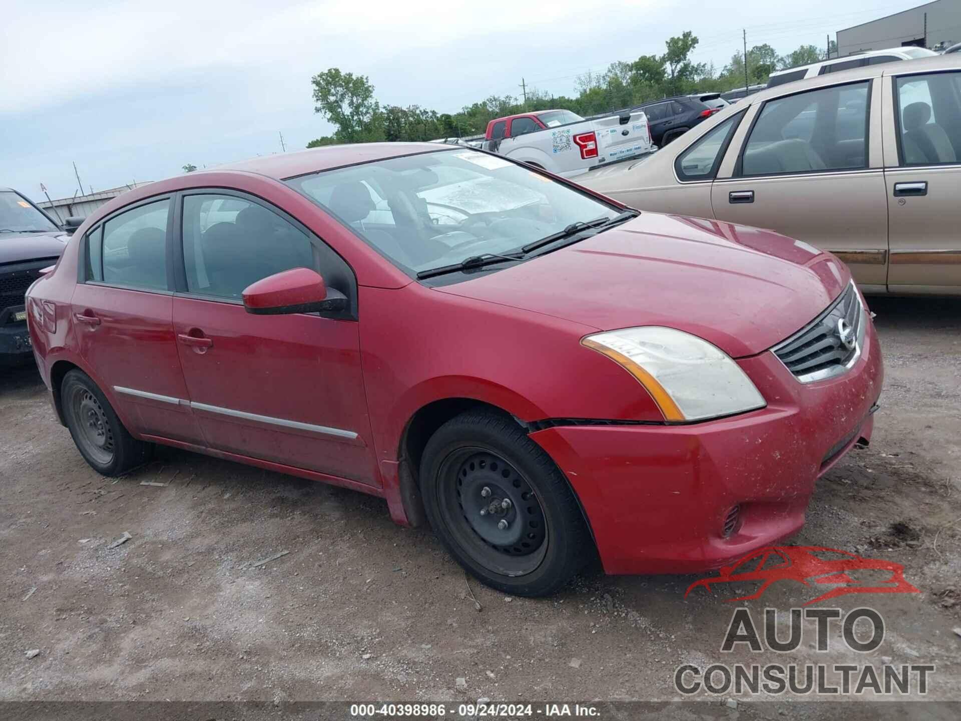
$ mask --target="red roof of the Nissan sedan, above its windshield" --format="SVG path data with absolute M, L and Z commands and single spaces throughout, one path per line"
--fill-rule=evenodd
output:
M 361 162 L 383 161 L 418 153 L 437 153 L 454 149 L 435 142 L 365 142 L 351 145 L 325 145 L 322 148 L 301 150 L 296 153 L 264 155 L 240 162 L 229 162 L 210 167 L 208 170 L 240 170 L 258 173 L 268 178 L 284 180 L 321 170 L 330 170 Z

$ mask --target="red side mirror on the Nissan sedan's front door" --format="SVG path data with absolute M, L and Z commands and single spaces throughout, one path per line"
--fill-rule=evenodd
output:
M 328 289 L 319 273 L 309 268 L 291 268 L 261 278 L 244 288 L 243 307 L 257 315 L 337 312 L 347 308 L 347 296 Z

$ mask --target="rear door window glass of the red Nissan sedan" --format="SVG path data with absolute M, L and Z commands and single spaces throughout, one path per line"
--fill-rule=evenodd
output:
M 103 242 L 87 236 L 91 280 L 116 286 L 167 289 L 167 215 L 170 200 L 122 212 L 104 223 Z

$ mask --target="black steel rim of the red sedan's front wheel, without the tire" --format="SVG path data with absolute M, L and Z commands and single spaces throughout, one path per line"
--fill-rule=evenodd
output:
M 540 566 L 547 519 L 528 479 L 500 454 L 458 449 L 440 467 L 440 512 L 457 543 L 484 568 L 523 576 Z

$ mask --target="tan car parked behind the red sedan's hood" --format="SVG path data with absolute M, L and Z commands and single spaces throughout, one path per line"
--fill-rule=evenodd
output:
M 634 208 L 798 238 L 847 262 L 865 292 L 961 294 L 961 54 L 771 88 L 646 160 L 574 180 Z

